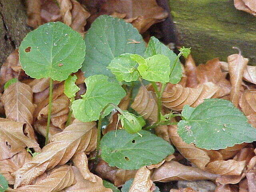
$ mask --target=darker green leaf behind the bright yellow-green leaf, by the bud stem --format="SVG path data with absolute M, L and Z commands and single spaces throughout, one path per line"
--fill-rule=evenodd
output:
M 177 55 L 167 46 L 162 44 L 157 38 L 151 37 L 150 41 L 148 42 L 148 47 L 146 48 L 144 57 L 148 58 L 157 54 L 165 55 L 170 60 L 170 68 L 172 72 L 170 73 L 169 82 L 172 84 L 177 84 L 180 82 L 182 76 L 180 60 L 177 60 L 176 64 L 174 64 Z

